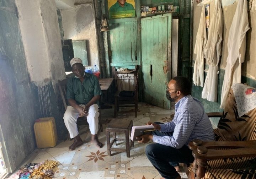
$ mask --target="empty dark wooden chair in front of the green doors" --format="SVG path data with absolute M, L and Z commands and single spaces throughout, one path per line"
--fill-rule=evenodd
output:
M 134 89 L 134 95 L 133 96 L 123 96 L 120 95 L 122 92 L 120 89 L 117 89 L 117 92 L 114 94 L 115 102 L 114 102 L 114 117 L 117 116 L 117 113 L 135 113 L 135 118 L 137 118 L 137 111 L 138 111 L 138 88 L 139 88 L 139 70 L 138 66 L 135 67 L 134 71 L 134 82 L 135 82 L 135 89 Z M 112 75 L 114 79 L 116 80 L 117 84 L 117 71 L 115 67 L 112 67 Z M 122 107 L 134 107 L 133 110 L 127 110 L 127 111 L 119 111 L 119 108 Z

